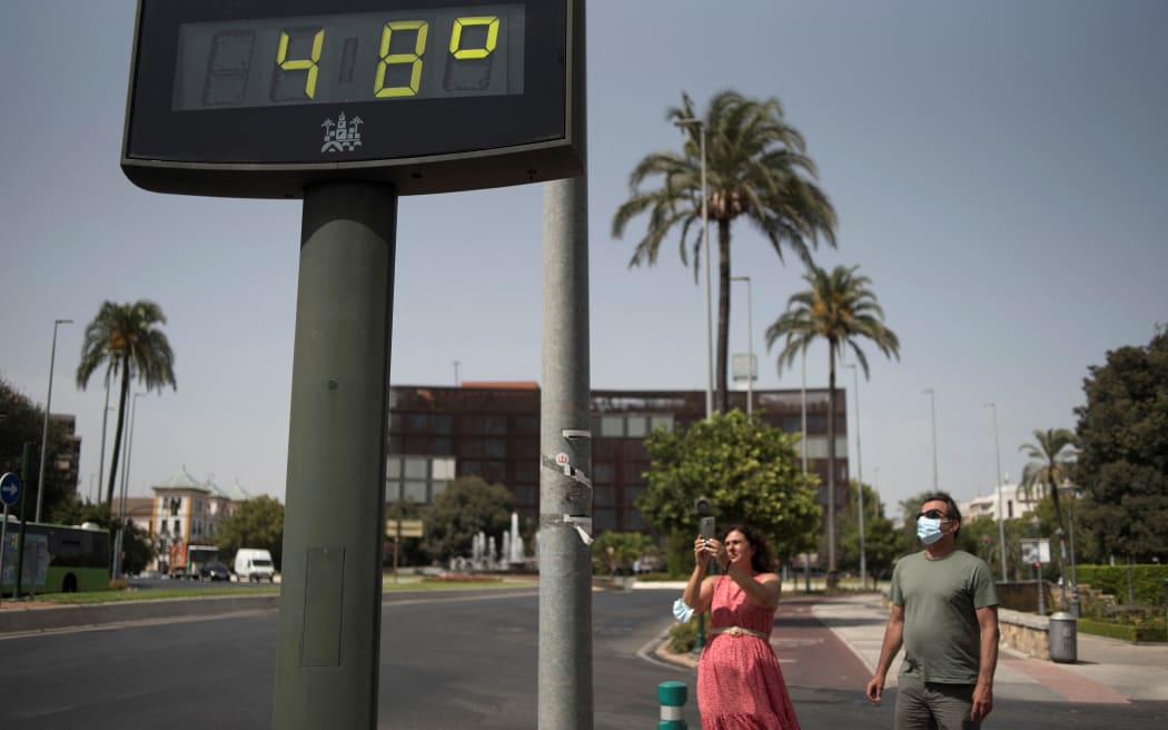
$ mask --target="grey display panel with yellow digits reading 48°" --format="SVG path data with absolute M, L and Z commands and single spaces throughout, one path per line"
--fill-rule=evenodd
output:
M 183 23 L 172 109 L 523 93 L 523 6 Z

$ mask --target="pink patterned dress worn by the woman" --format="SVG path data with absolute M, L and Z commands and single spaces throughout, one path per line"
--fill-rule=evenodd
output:
M 729 576 L 714 586 L 710 638 L 697 662 L 702 730 L 799 730 L 771 648 L 774 609 L 753 603 Z M 739 628 L 757 632 L 715 633 Z M 737 635 L 735 635 L 737 634 Z

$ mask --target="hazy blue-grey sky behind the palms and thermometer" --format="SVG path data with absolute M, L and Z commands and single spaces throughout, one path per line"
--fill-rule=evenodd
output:
M 134 8 L 0 8 L 0 377 L 43 405 L 51 360 L 51 411 L 76 415 L 79 492 L 96 496 L 105 391 L 99 375 L 75 384 L 84 327 L 105 300 L 153 300 L 178 390 L 137 399 L 128 494 L 186 468 L 283 501 L 300 202 L 161 195 L 123 175 Z M 779 99 L 802 132 L 839 215 L 816 264 L 858 266 L 899 336 L 899 360 L 865 348 L 864 481 L 890 514 L 932 487 L 934 454 L 959 500 L 989 494 L 999 457 L 1016 481 L 1035 429 L 1075 427 L 1089 368 L 1168 322 L 1164 37 L 1159 0 L 593 0 L 592 387 L 705 388 L 704 290 L 676 235 L 656 266 L 630 269 L 646 221 L 620 239 L 611 221 L 637 161 L 681 148 L 667 109 L 732 88 Z M 392 384 L 540 380 L 542 194 L 401 200 Z M 735 285 L 730 350 L 746 352 L 749 308 L 755 387 L 799 388 L 764 335 L 805 288 L 802 264 L 744 223 L 731 232 L 752 297 Z M 74 324 L 54 359 L 56 319 Z M 821 345 L 806 381 L 827 380 Z M 853 381 L 840 373 L 849 420 Z

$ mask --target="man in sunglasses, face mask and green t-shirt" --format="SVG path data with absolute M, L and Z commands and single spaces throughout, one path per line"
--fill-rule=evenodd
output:
M 960 529 L 953 498 L 926 495 L 917 515 L 925 549 L 901 558 L 892 571 L 891 616 L 867 694 L 881 701 L 903 645 L 897 730 L 976 730 L 994 708 L 997 592 L 989 565 L 957 549 Z

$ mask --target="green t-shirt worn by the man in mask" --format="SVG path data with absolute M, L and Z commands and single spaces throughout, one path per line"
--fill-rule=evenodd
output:
M 978 609 L 997 605 L 989 565 L 954 550 L 930 559 L 924 550 L 896 564 L 889 598 L 904 607 L 902 676 L 973 684 L 981 663 Z

